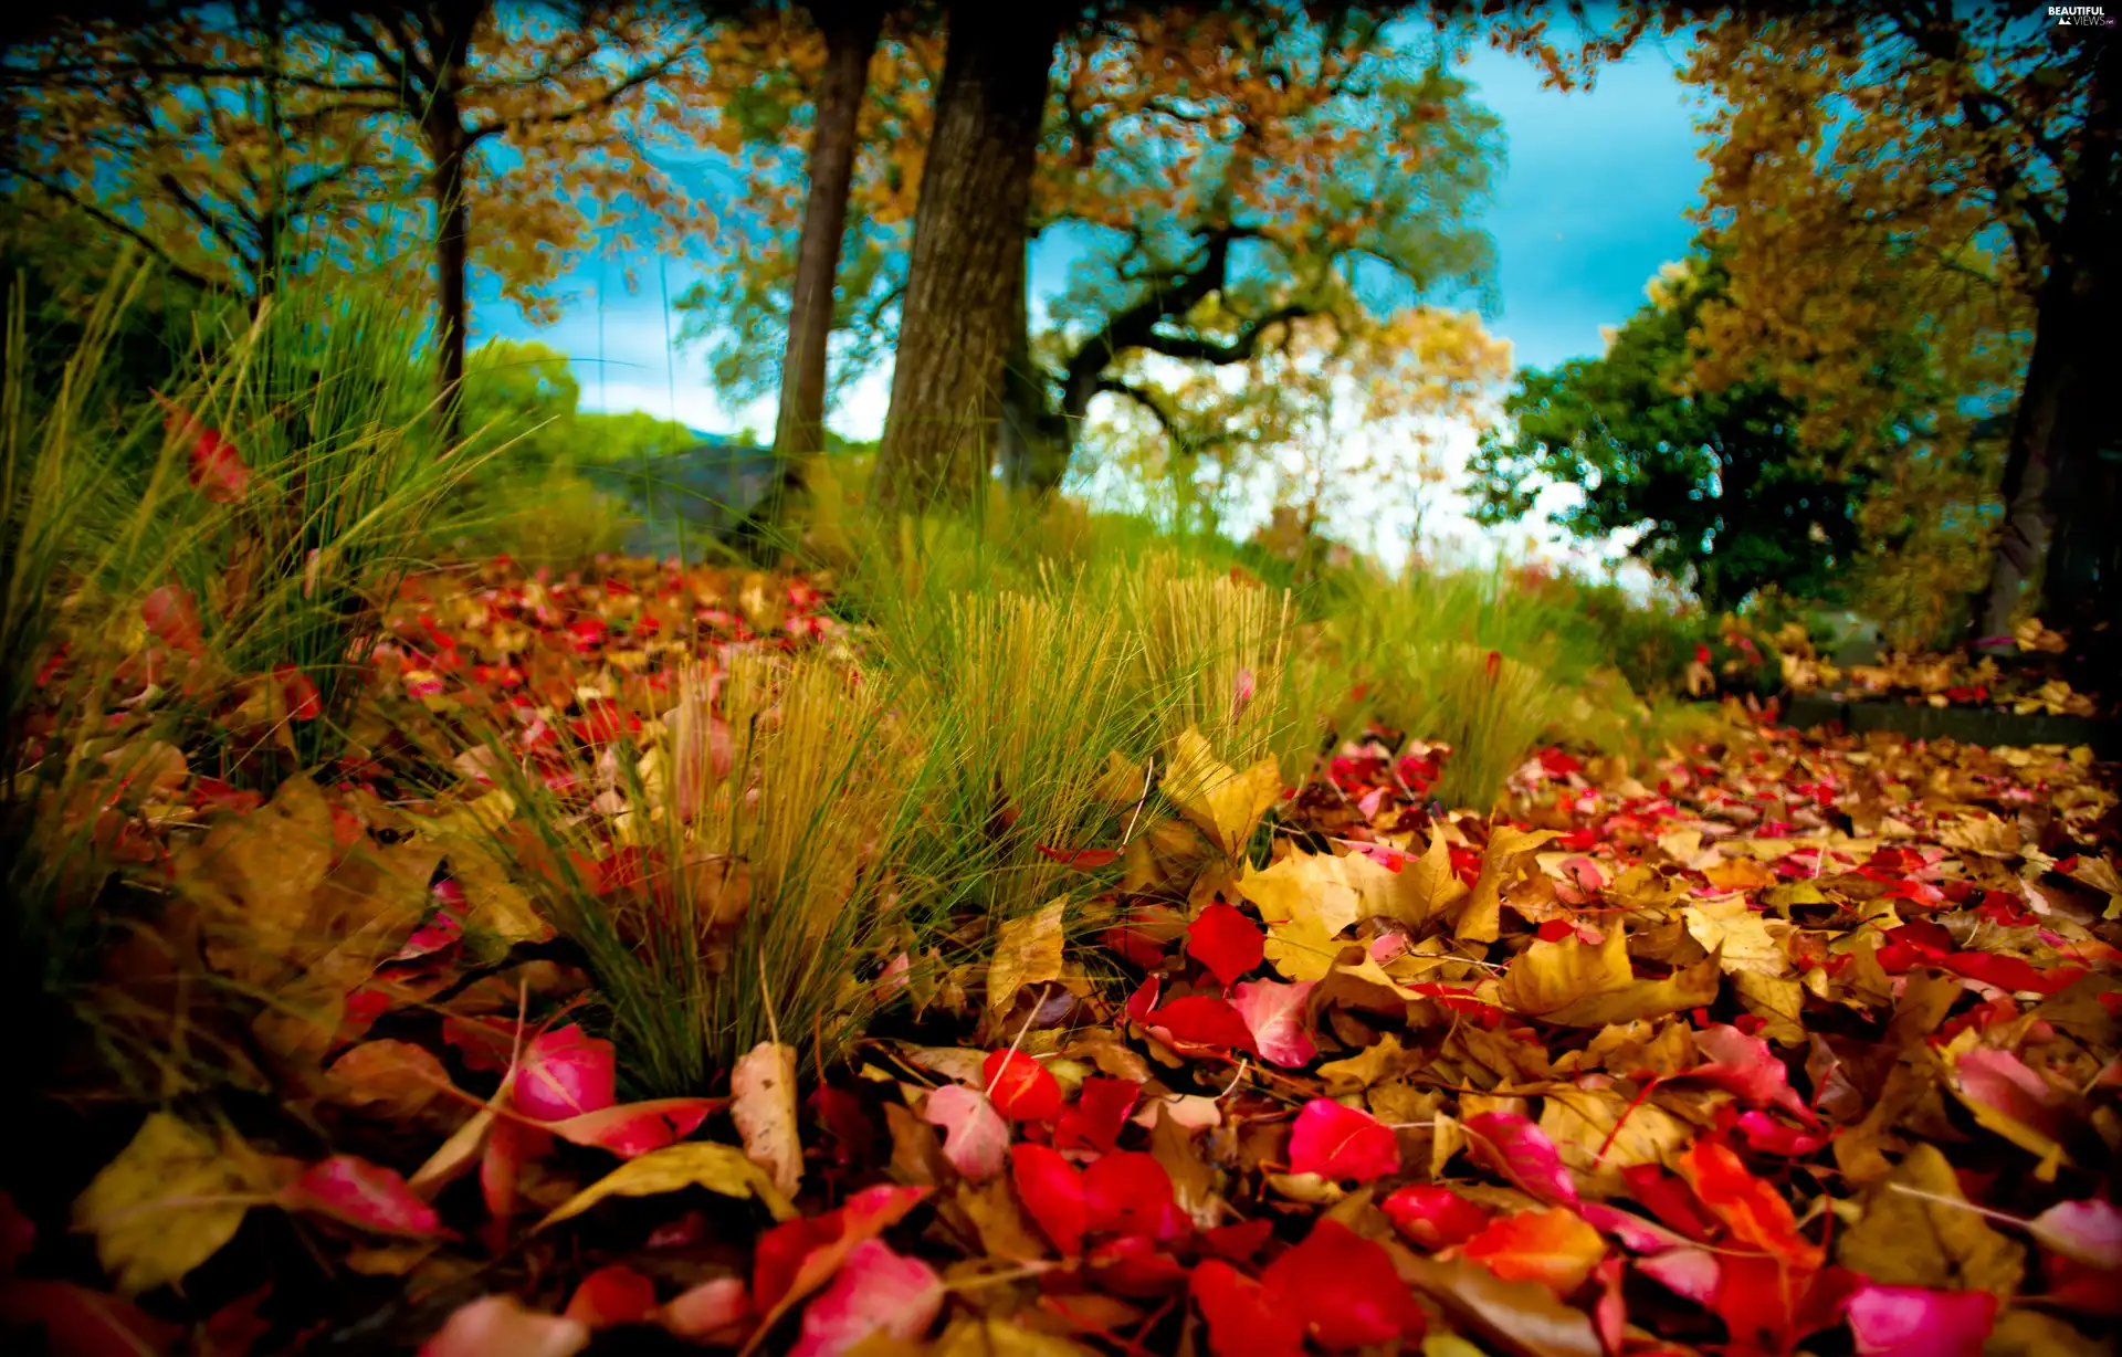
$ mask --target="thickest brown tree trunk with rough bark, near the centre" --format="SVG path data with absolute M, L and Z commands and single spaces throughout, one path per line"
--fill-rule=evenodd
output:
M 887 507 L 968 503 L 993 456 L 1061 13 L 953 0 L 949 34 L 876 466 Z

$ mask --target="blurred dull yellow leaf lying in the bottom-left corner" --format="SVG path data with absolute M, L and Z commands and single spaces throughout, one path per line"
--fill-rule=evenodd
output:
M 236 1236 L 250 1209 L 221 1145 L 166 1111 L 149 1115 L 119 1158 L 74 1200 L 74 1230 L 125 1296 L 178 1283 Z

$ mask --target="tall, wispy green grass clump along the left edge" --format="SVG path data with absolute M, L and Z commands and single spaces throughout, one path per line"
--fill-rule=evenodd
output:
M 104 293 L 51 390 L 8 312 L 0 854 L 11 999 L 72 1005 L 117 1073 L 168 1092 L 219 1056 L 172 1073 L 93 984 L 119 937 L 195 969 L 142 927 L 161 901 L 144 869 L 191 814 L 172 793 L 212 774 L 269 795 L 344 748 L 378 604 L 469 460 L 424 430 L 418 318 L 388 297 L 291 282 L 146 392 L 110 360 L 144 278 Z

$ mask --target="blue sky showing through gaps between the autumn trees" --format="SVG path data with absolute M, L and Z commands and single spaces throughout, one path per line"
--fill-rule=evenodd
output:
M 1642 305 L 1642 286 L 1657 267 L 1687 252 L 1693 237 L 1687 210 L 1702 187 L 1702 136 L 1693 127 L 1693 95 L 1674 74 L 1679 55 L 1674 47 L 1645 42 L 1628 61 L 1606 68 L 1589 93 L 1541 89 L 1528 59 L 1485 47 L 1460 68 L 1475 98 L 1504 125 L 1507 163 L 1485 218 L 1496 240 L 1498 307 L 1483 320 L 1513 343 L 1521 367 L 1602 352 L 1600 327 L 1625 320 Z M 634 293 L 622 286 L 628 265 L 639 282 Z M 1059 250 L 1038 250 L 1033 293 L 1055 288 L 1065 267 Z M 473 341 L 501 335 L 567 352 L 586 409 L 645 409 L 711 433 L 745 426 L 768 433 L 770 405 L 724 407 L 707 386 L 698 348 L 666 346 L 666 333 L 677 333 L 677 318 L 664 307 L 666 288 L 677 297 L 694 278 L 696 265 L 681 259 L 588 259 L 560 280 L 571 301 L 550 327 L 528 324 L 477 288 Z M 889 373 L 857 384 L 834 411 L 834 428 L 874 437 L 887 384 Z M 1471 447 L 1471 435 L 1460 443 Z

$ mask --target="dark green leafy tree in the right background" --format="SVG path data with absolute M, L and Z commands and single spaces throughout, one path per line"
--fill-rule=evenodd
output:
M 1804 407 L 1772 382 L 1687 388 L 1689 331 L 1723 284 L 1702 259 L 1668 267 L 1602 358 L 1526 371 L 1504 401 L 1509 428 L 1475 454 L 1475 517 L 1519 519 L 1560 481 L 1583 494 L 1551 515 L 1558 526 L 1638 530 L 1630 553 L 1712 609 L 1770 585 L 1838 598 L 1872 475 L 1810 454 Z

